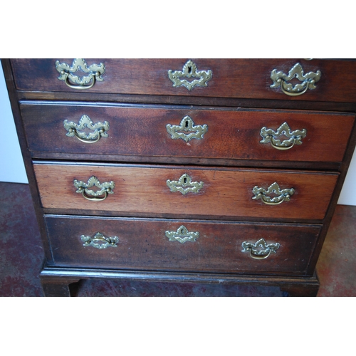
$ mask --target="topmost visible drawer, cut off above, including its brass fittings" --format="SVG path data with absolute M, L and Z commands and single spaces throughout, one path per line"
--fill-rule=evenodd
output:
M 356 61 L 58 58 L 13 59 L 11 66 L 19 90 L 356 101 Z

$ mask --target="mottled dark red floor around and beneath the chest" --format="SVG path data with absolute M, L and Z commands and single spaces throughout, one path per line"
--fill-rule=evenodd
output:
M 43 296 L 43 248 L 28 184 L 0 182 L 0 296 Z M 317 265 L 318 296 L 356 296 L 356 206 L 337 206 Z M 78 296 L 283 296 L 279 288 L 84 281 Z

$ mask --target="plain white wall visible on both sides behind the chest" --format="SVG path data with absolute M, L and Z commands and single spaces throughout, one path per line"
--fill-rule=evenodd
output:
M 0 182 L 27 183 L 4 73 L 0 62 Z M 352 157 L 338 204 L 356 205 L 356 153 Z

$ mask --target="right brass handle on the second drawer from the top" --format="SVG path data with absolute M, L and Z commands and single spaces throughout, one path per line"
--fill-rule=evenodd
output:
M 263 137 L 261 143 L 271 143 L 271 146 L 276 150 L 290 150 L 294 145 L 301 145 L 302 139 L 307 135 L 307 130 L 295 130 L 291 131 L 287 122 L 284 122 L 277 131 L 268 129 L 267 127 L 261 128 L 260 135 Z M 281 140 L 281 137 L 285 136 L 288 140 Z

